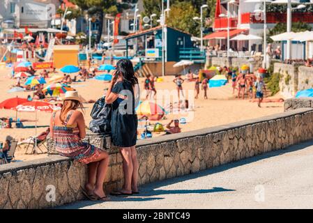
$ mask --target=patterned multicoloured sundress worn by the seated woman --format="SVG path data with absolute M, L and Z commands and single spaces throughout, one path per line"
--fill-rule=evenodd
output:
M 67 125 L 72 113 L 73 111 L 68 114 L 64 126 L 54 125 L 56 113 L 53 114 L 53 139 L 56 144 L 56 151 L 65 157 L 89 164 L 99 157 L 100 148 L 83 142 L 79 136 L 79 128 L 72 128 Z

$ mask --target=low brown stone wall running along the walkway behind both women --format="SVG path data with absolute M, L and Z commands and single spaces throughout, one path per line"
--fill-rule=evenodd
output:
M 90 136 L 99 146 L 102 138 Z M 195 173 L 313 139 L 313 109 L 303 108 L 273 116 L 214 128 L 145 139 L 137 144 L 139 185 Z M 93 141 L 92 141 L 93 140 Z M 49 146 L 53 146 L 49 144 Z M 107 192 L 123 184 L 122 160 L 110 148 Z M 53 155 L 43 160 L 0 166 L 0 208 L 47 208 L 82 199 L 86 166 Z M 49 185 L 56 201 L 47 202 Z

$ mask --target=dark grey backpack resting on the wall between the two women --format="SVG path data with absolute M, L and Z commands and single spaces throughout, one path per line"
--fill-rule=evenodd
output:
M 105 103 L 105 97 L 96 101 L 90 115 L 92 118 L 89 123 L 89 129 L 91 132 L 102 135 L 111 134 L 112 105 L 107 105 Z

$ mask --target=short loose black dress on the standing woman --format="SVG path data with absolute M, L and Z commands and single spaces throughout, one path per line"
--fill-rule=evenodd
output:
M 127 80 L 113 86 L 112 93 L 125 95 L 112 104 L 112 144 L 119 147 L 135 146 L 137 142 L 138 119 L 135 113 L 135 96 L 132 84 Z

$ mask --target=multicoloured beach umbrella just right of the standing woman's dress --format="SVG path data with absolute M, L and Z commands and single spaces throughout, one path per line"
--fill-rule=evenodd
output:
M 160 120 L 166 113 L 163 107 L 148 100 L 139 102 L 136 112 L 137 115 L 147 116 L 152 121 Z

